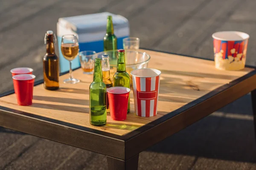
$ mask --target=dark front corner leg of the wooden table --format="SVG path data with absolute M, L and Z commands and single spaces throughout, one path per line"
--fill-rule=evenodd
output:
M 108 170 L 137 170 L 139 154 L 126 161 L 107 156 Z

